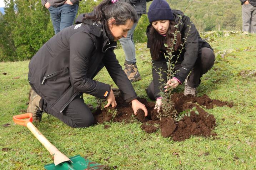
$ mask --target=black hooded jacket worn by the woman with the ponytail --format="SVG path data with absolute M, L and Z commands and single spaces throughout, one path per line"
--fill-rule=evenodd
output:
M 109 95 L 110 85 L 92 80 L 103 63 L 129 102 L 137 96 L 116 59 L 115 46 L 116 42 L 109 41 L 103 24 L 98 22 L 85 20 L 67 27 L 32 57 L 29 82 L 54 111 L 62 112 L 80 92 L 100 99 Z

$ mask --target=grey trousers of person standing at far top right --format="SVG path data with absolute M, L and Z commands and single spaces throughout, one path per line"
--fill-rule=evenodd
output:
M 250 21 L 252 15 L 252 6 L 251 4 L 242 5 L 242 20 L 243 20 L 243 31 L 251 32 L 250 30 Z

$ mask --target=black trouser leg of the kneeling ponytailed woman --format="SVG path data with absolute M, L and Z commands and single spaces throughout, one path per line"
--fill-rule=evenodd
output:
M 62 113 L 54 112 L 47 107 L 47 103 L 44 103 L 43 109 L 46 113 L 57 117 L 70 127 L 89 127 L 94 124 L 94 117 L 80 96 L 75 97 Z

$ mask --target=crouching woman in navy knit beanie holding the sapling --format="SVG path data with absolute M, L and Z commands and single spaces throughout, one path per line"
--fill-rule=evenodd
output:
M 147 88 L 147 95 L 151 100 L 156 100 L 156 105 L 161 105 L 160 88 L 168 91 L 185 81 L 184 95 L 196 96 L 196 87 L 200 84 L 200 78 L 214 65 L 214 52 L 211 46 L 201 39 L 195 25 L 190 18 L 179 10 L 171 10 L 164 0 L 154 0 L 147 13 L 150 25 L 147 27 L 147 47 L 150 48 L 152 57 L 153 81 Z M 182 16 L 182 17 L 180 17 Z M 179 23 L 179 26 L 176 27 Z M 176 43 L 172 46 L 172 38 L 177 32 Z M 184 42 L 184 39 L 186 41 Z M 165 47 L 167 44 L 168 47 Z M 182 49 L 184 44 L 185 49 Z M 172 63 L 175 64 L 174 76 L 167 80 L 167 50 L 173 47 Z M 179 50 L 182 49 L 180 53 Z M 180 54 L 180 55 L 179 55 Z M 178 57 L 179 56 L 179 57 Z M 160 83 L 159 69 L 161 68 L 162 80 Z M 191 73 L 190 73 L 191 71 Z M 163 84 L 167 85 L 164 86 Z

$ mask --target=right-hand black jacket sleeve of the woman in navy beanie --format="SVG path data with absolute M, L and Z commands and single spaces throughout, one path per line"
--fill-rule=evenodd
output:
M 190 18 L 187 16 L 183 16 L 182 18 L 184 22 L 184 28 L 181 32 L 182 37 L 186 38 L 185 41 L 185 54 L 184 60 L 181 63 L 181 67 L 178 72 L 175 74 L 175 77 L 183 83 L 189 75 L 190 71 L 194 67 L 197 59 L 199 44 L 198 44 L 198 37 L 197 37 L 197 30 L 194 25 L 190 21 Z M 189 26 L 191 25 L 191 28 Z

